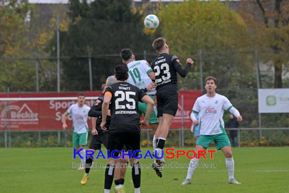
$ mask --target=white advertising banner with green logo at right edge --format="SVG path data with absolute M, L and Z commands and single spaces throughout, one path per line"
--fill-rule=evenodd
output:
M 289 88 L 259 89 L 259 113 L 289 113 Z

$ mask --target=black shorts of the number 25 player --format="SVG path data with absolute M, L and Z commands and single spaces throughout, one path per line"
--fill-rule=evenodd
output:
M 126 149 L 124 149 L 125 147 Z M 109 150 L 112 153 L 114 150 L 140 150 L 140 134 L 137 133 L 111 133 L 109 136 Z M 136 154 L 137 155 L 137 154 Z M 112 154 L 111 154 L 112 156 Z M 118 152 L 114 153 L 118 156 Z

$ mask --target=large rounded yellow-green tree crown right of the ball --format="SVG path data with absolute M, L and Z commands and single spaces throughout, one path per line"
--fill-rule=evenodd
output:
M 231 83 L 228 80 L 234 78 L 232 72 L 237 70 L 244 75 L 252 70 L 252 57 L 244 57 L 251 50 L 248 28 L 243 19 L 223 3 L 171 3 L 162 7 L 158 15 L 163 27 L 162 35 L 167 39 L 171 53 L 184 59 L 194 57 L 196 63 L 202 55 L 204 77 L 216 76 L 222 88 Z M 193 88 L 200 89 L 199 84 Z

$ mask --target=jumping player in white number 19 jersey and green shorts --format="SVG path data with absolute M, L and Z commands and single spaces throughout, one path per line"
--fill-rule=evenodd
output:
M 149 65 L 149 63 L 146 60 L 135 60 L 135 55 L 133 54 L 132 50 L 129 48 L 122 49 L 121 51 L 121 57 L 122 62 L 127 65 L 128 67 L 128 73 L 129 78 L 127 79 L 127 82 L 140 88 L 144 89 L 144 92 L 146 92 L 150 98 L 153 99 L 155 102 L 155 95 L 156 95 L 156 83 L 153 82 L 155 80 L 155 72 Z M 139 117 L 141 117 L 143 114 L 146 115 L 147 111 L 147 104 L 138 102 L 138 113 Z M 149 120 L 149 124 L 152 128 L 152 130 L 155 132 L 158 125 L 159 120 L 157 117 L 157 106 L 156 103 L 154 105 L 154 111 L 152 112 L 152 115 Z M 155 149 L 156 145 L 156 136 L 154 135 L 153 138 L 153 148 Z M 154 168 L 157 175 L 159 177 L 162 177 L 161 168 Z

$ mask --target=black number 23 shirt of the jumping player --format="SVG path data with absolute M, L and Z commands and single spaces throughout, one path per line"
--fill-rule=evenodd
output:
M 177 90 L 177 74 L 185 78 L 189 73 L 191 63 L 187 63 L 185 69 L 175 55 L 168 53 L 160 54 L 152 62 L 152 68 L 155 71 L 157 90 L 161 88 L 170 88 Z M 170 86 L 165 86 L 170 85 Z

